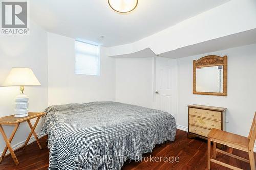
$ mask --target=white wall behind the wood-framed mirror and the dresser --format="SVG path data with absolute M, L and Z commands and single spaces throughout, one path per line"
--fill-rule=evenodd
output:
M 193 60 L 206 55 L 228 56 L 227 96 L 192 94 Z M 188 127 L 187 105 L 226 107 L 227 131 L 247 136 L 256 111 L 256 44 L 177 59 L 177 124 Z

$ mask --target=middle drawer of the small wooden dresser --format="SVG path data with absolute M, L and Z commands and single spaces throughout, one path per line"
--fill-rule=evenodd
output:
M 221 130 L 221 122 L 208 120 L 201 117 L 189 116 L 189 124 L 198 125 L 210 129 L 216 128 Z

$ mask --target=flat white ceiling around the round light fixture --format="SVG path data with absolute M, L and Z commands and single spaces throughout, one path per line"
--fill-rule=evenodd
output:
M 33 0 L 30 16 L 49 32 L 116 46 L 138 41 L 228 1 L 139 0 L 134 11 L 119 14 L 107 0 Z

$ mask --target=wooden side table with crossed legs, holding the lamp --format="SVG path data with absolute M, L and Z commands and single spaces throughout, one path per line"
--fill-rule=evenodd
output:
M 34 137 L 35 137 L 35 139 L 36 139 L 36 142 L 37 142 L 39 148 L 42 149 L 42 146 L 41 146 L 41 144 L 40 144 L 40 141 L 39 141 L 39 139 L 38 139 L 36 133 L 34 132 L 34 130 L 35 130 L 35 128 L 36 128 L 36 126 L 37 126 L 37 124 L 38 124 L 39 119 L 41 118 L 41 116 L 45 115 L 46 113 L 28 113 L 28 114 L 29 114 L 29 115 L 26 116 L 26 117 L 14 117 L 14 115 L 11 115 L 11 116 L 6 116 L 6 117 L 0 118 L 0 132 L 1 132 L 1 134 L 2 134 L 2 136 L 3 136 L 3 138 L 4 138 L 4 140 L 5 140 L 5 143 L 6 143 L 6 147 L 5 147 L 3 153 L 2 153 L 2 155 L 1 155 L 1 157 L 0 157 L 0 163 L 1 163 L 1 162 L 3 161 L 3 159 L 4 159 L 5 154 L 6 154 L 6 152 L 7 152 L 7 149 L 9 149 L 10 154 L 11 154 L 11 156 L 12 156 L 12 159 L 13 159 L 14 163 L 15 163 L 16 165 L 19 164 L 18 159 L 17 159 L 16 155 L 14 154 L 14 151 L 13 151 L 13 149 L 12 149 L 10 143 L 12 142 L 12 139 L 13 139 L 15 133 L 17 132 L 17 129 L 18 129 L 18 127 L 19 127 L 19 124 L 22 123 L 22 122 L 26 122 L 26 121 L 27 121 L 28 124 L 29 124 L 29 127 L 30 127 L 31 131 L 30 131 L 30 133 L 29 133 L 29 136 L 28 136 L 28 138 L 27 138 L 25 144 L 24 144 L 21 148 L 24 149 L 24 148 L 26 147 L 26 145 L 27 145 L 28 142 L 29 142 L 30 137 L 31 137 L 32 134 L 33 134 Z M 32 124 L 31 124 L 31 122 L 30 122 L 30 120 L 33 119 L 33 118 L 37 118 L 37 119 L 36 119 L 36 122 L 35 122 L 35 124 L 34 124 L 34 126 L 32 126 Z M 14 126 L 15 126 L 15 127 L 14 127 L 14 130 L 12 131 L 12 134 L 11 134 L 9 140 L 8 140 L 6 134 L 5 134 L 5 131 L 4 131 L 2 125 L 14 125 Z M 20 148 L 18 148 L 18 149 L 20 149 Z M 17 149 L 17 150 L 18 150 L 18 149 Z

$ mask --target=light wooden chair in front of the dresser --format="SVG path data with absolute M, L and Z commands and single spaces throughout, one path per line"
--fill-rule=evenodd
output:
M 251 125 L 251 130 L 248 138 L 240 135 L 236 135 L 233 133 L 225 132 L 218 129 L 212 129 L 208 134 L 208 169 L 210 170 L 210 162 L 217 163 L 219 165 L 228 167 L 230 169 L 240 169 L 229 164 L 223 163 L 221 161 L 216 160 L 216 152 L 220 152 L 222 154 L 228 155 L 230 157 L 239 159 L 241 161 L 250 163 L 251 169 L 256 170 L 255 167 L 255 158 L 254 158 L 254 143 L 256 138 L 256 113 L 254 115 L 254 119 Z M 211 157 L 211 142 L 213 142 L 213 155 Z M 216 148 L 216 143 L 220 143 L 226 145 L 231 148 L 236 148 L 242 151 L 246 151 L 249 153 L 249 160 L 241 158 L 237 155 L 233 155 L 231 153 L 222 151 Z

